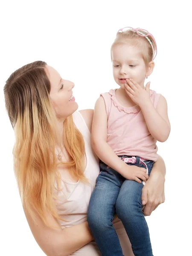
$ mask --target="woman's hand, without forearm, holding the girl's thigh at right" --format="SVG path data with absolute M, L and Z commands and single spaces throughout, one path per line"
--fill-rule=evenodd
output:
M 165 202 L 164 194 L 165 178 L 160 173 L 151 173 L 142 190 L 142 208 L 144 216 L 151 215 L 160 204 Z M 143 203 L 145 201 L 145 203 Z

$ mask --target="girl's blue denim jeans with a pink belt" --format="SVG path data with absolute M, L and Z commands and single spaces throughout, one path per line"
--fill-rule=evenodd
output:
M 150 175 L 154 162 L 144 162 Z M 136 157 L 136 163 L 127 164 L 146 169 L 146 166 L 140 163 L 140 157 Z M 153 256 L 148 225 L 142 211 L 143 186 L 143 183 L 135 180 L 126 180 L 118 172 L 100 162 L 100 173 L 90 198 L 87 221 L 103 256 L 123 256 L 112 222 L 115 212 L 125 227 L 134 255 Z

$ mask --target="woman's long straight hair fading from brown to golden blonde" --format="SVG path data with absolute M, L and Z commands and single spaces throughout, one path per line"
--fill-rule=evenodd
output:
M 46 65 L 35 61 L 16 70 L 6 81 L 4 95 L 15 131 L 14 172 L 23 207 L 34 221 L 37 214 L 49 226 L 46 212 L 57 221 L 63 219 L 54 202 L 54 189 L 58 190 L 61 178 L 55 157 L 58 120 L 49 96 Z M 64 165 L 73 177 L 88 182 L 84 177 L 84 140 L 72 115 L 64 120 L 63 143 L 70 155 Z

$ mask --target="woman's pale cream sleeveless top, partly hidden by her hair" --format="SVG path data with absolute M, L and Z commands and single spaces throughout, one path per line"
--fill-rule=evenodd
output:
M 84 175 L 89 180 L 90 185 L 81 181 L 75 183 L 70 182 L 64 180 L 64 178 L 61 177 L 61 191 L 55 192 L 58 195 L 60 201 L 57 200 L 55 204 L 57 206 L 59 215 L 61 215 L 61 218 L 64 218 L 64 220 L 68 221 L 60 221 L 62 228 L 71 227 L 87 221 L 87 210 L 90 196 L 95 187 L 96 178 L 99 175 L 99 161 L 91 147 L 91 134 L 83 116 L 79 111 L 73 113 L 73 121 L 84 138 L 85 154 L 87 158 L 87 165 L 84 171 Z M 131 243 L 125 232 L 122 222 L 116 218 L 113 223 L 119 236 L 123 254 L 125 256 L 134 256 L 131 249 Z M 70 255 L 101 256 L 101 253 L 99 252 L 96 243 L 92 241 Z

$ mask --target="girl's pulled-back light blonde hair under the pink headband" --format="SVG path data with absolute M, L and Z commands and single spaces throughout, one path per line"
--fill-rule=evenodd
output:
M 154 44 L 154 41 L 150 35 L 148 35 L 148 38 L 151 40 L 151 43 L 153 44 L 154 53 L 155 53 L 157 49 Z M 111 61 L 112 61 L 112 49 L 115 45 L 118 45 L 118 44 L 130 44 L 134 47 L 140 48 L 142 58 L 145 62 L 145 67 L 147 67 L 149 62 L 152 61 L 153 59 L 153 50 L 149 41 L 145 37 L 138 35 L 136 32 L 133 32 L 131 30 L 126 30 L 124 32 L 116 33 L 115 41 L 111 46 Z

